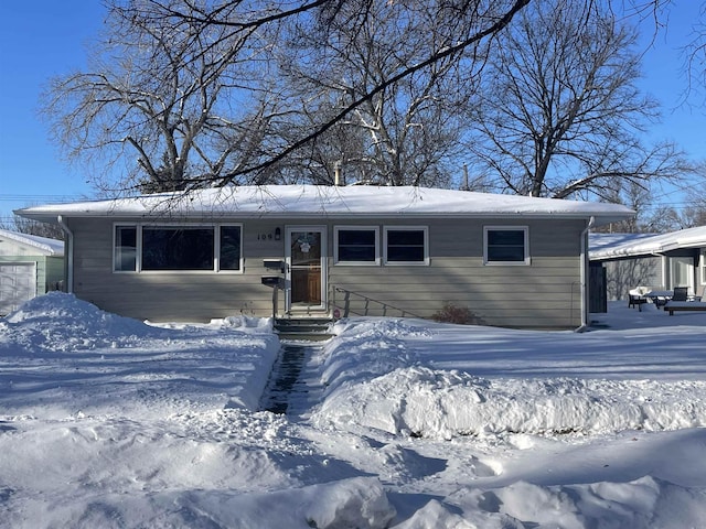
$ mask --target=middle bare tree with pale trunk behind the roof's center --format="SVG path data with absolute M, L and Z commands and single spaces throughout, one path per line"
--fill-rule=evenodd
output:
M 353 2 L 351 2 L 353 3 Z M 321 31 L 298 26 L 285 48 L 282 76 L 291 104 L 301 109 L 301 130 L 325 122 L 362 99 L 335 127 L 301 151 L 301 164 L 317 180 L 331 180 L 330 168 L 342 164 L 347 182 L 386 185 L 449 183 L 449 161 L 460 150 L 463 121 L 459 109 L 473 91 L 474 61 L 484 43 L 440 57 L 414 75 L 365 97 L 400 71 L 478 31 L 490 11 L 451 10 L 445 2 L 373 3 L 366 19 L 350 24 L 353 6 Z M 484 52 L 483 52 L 484 53 Z M 481 55 L 483 54 L 481 53 Z

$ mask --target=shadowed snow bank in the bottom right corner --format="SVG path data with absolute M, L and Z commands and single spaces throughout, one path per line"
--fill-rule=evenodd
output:
M 395 529 L 677 529 L 703 527 L 706 520 L 704 489 L 689 489 L 651 476 L 628 483 L 557 486 L 520 481 L 498 489 L 463 488 L 447 501 L 463 510 L 464 520 L 458 525 L 403 523 Z M 428 510 L 421 509 L 415 516 Z M 438 510 L 446 519 L 452 516 Z

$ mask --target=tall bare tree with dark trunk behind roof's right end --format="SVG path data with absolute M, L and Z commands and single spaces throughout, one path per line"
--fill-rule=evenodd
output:
M 499 35 L 471 119 L 470 151 L 500 191 L 616 199 L 689 168 L 645 145 L 654 101 L 635 87 L 635 33 L 602 2 L 533 2 Z

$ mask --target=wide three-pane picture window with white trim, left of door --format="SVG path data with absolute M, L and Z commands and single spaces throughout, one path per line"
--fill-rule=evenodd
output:
M 240 225 L 115 225 L 116 272 L 240 271 Z

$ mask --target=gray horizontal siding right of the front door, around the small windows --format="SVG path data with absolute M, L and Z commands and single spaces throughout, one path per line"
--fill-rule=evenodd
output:
M 353 292 L 349 307 L 355 314 L 397 316 L 404 312 L 431 317 L 450 302 L 490 325 L 556 328 L 580 324 L 579 235 L 584 223 L 434 219 L 408 224 L 429 227 L 430 264 L 333 264 L 333 306 L 344 311 L 343 291 L 347 290 Z M 483 264 L 483 226 L 502 225 L 530 228 L 531 266 Z

